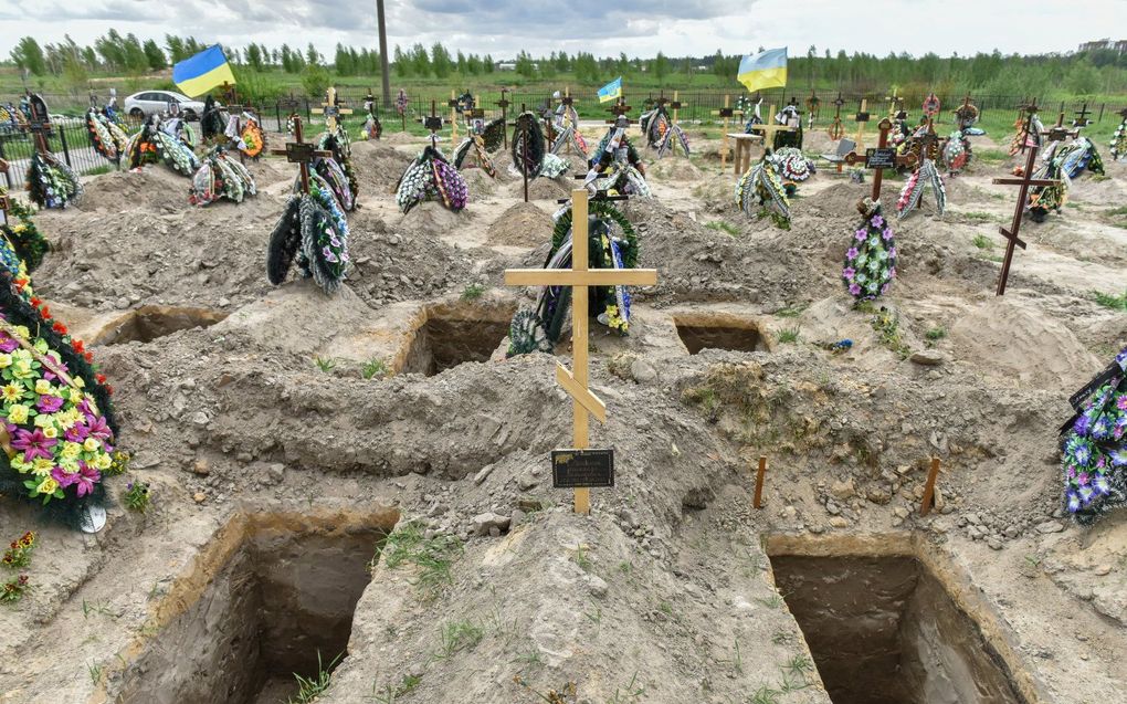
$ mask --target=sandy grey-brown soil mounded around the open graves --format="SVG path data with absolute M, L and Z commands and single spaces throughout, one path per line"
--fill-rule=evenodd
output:
M 1127 280 L 1112 213 L 1127 167 L 1082 177 L 1074 206 L 1023 228 L 1029 249 L 1002 300 L 997 226 L 1014 194 L 991 179 L 1005 167 L 957 177 L 946 216 L 895 222 L 900 276 L 881 304 L 899 354 L 838 279 L 868 186 L 822 167 L 789 232 L 748 222 L 712 158 L 719 142 L 690 130 L 694 155 L 650 164 L 656 198 L 624 206 L 658 284 L 635 292 L 629 337 L 593 324 L 592 385 L 609 418 L 592 443 L 615 449 L 616 485 L 580 517 L 551 488 L 549 453 L 570 444 L 571 421 L 556 360 L 504 360 L 496 332 L 533 293 L 505 288 L 503 270 L 543 262 L 568 184 L 538 179 L 524 204 L 498 154 L 496 181 L 469 176 L 465 212 L 403 216 L 391 190 L 420 143 L 389 137 L 354 145 L 355 266 L 334 298 L 266 282 L 293 177 L 281 159 L 252 164 L 260 194 L 238 206 L 193 208 L 186 179 L 147 168 L 96 177 L 80 208 L 38 216 L 55 251 L 36 288 L 86 339 L 109 339 L 144 306 L 175 320 L 204 310 L 189 320 L 214 324 L 96 346 L 134 454 L 110 492 L 150 482 L 149 513 L 114 506 L 86 536 L 0 500 L 0 538 L 41 532 L 34 590 L 0 607 L 0 702 L 176 702 L 176 683 L 249 670 L 223 657 L 236 622 L 221 611 L 249 588 L 224 572 L 247 526 L 261 542 L 397 522 L 414 522 L 438 568 L 379 559 L 373 542 L 322 704 L 538 702 L 570 684 L 560 701 L 827 704 L 770 560 L 796 552 L 916 556 L 1027 702 L 1104 703 L 1127 688 L 1127 514 L 1091 528 L 1062 515 L 1055 435 L 1068 395 L 1127 345 L 1127 315 L 1092 296 Z M 831 151 L 822 133 L 807 148 Z M 899 180 L 886 184 L 887 204 Z M 690 355 L 678 326 L 716 324 L 758 336 L 760 351 Z M 850 351 L 826 349 L 843 338 Z M 471 348 L 486 360 L 408 372 L 420 355 Z M 390 373 L 365 378 L 372 360 Z M 931 456 L 943 470 L 922 516 Z M 311 590 L 294 623 L 316 624 L 335 592 L 318 587 L 328 572 L 296 564 L 276 562 L 303 586 L 275 588 Z M 172 665 L 154 667 L 169 648 Z M 257 703 L 293 694 L 270 678 Z

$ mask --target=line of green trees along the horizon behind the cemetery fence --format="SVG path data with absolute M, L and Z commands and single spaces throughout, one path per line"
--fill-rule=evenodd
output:
M 34 37 L 25 36 L 11 50 L 10 59 L 34 75 L 63 75 L 68 83 L 78 88 L 92 73 L 140 77 L 167 69 L 206 46 L 190 36 L 169 34 L 159 44 L 156 39 L 142 42 L 133 34 L 122 36 L 116 29 L 110 29 L 96 38 L 94 44 L 85 46 L 69 35 L 63 42 L 42 46 Z M 268 47 L 250 43 L 241 47 L 225 46 L 224 52 L 233 64 L 243 70 L 302 74 L 303 81 L 308 79 L 317 84 L 331 80 L 332 74 L 378 75 L 380 71 L 379 52 L 344 44 L 336 45 L 331 61 L 312 43 L 305 47 L 287 44 Z M 529 80 L 571 74 L 579 84 L 597 84 L 618 75 L 630 79 L 639 74 L 653 77 L 663 84 L 666 80 L 683 83 L 681 77 L 700 74 L 734 82 L 740 59 L 740 55 L 720 51 L 708 56 L 684 57 L 658 53 L 651 59 L 628 57 L 625 54 L 595 57 L 588 52 L 568 54 L 562 51 L 535 57 L 521 51 L 508 60 L 514 65 L 505 68 Z M 396 46 L 391 63 L 399 79 L 438 80 L 485 75 L 497 71 L 500 65 L 489 54 L 451 53 L 442 43 L 435 43 L 429 48 L 423 44 L 406 48 Z M 841 87 L 854 92 L 872 92 L 898 88 L 915 92 L 934 89 L 948 93 L 968 90 L 988 95 L 1067 92 L 1077 96 L 1127 92 L 1127 53 L 1113 50 L 1037 55 L 1004 55 L 995 50 L 973 56 L 940 56 L 935 53 L 878 56 L 866 52 L 833 53 L 828 48 L 819 52 L 816 46 L 810 46 L 805 54 L 790 57 L 789 71 L 790 84 L 799 90 L 805 87 Z

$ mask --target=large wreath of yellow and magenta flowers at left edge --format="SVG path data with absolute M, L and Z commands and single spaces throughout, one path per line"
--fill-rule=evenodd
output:
M 77 526 L 105 500 L 103 478 L 124 466 L 113 390 L 30 282 L 7 268 L 0 310 L 0 493 L 41 501 Z

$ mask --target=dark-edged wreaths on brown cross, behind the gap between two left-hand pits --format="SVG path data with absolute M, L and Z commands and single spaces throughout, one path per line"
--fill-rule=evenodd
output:
M 296 189 L 295 189 L 296 190 Z M 282 284 L 294 259 L 304 278 L 312 277 L 327 294 L 340 287 L 348 266 L 348 222 L 329 185 L 309 175 L 309 194 L 291 195 L 270 233 L 266 276 Z

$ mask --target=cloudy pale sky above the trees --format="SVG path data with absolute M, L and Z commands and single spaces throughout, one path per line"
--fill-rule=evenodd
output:
M 1125 0 L 387 0 L 391 46 L 443 42 L 451 50 L 507 57 L 566 50 L 632 56 L 736 54 L 758 46 L 811 44 L 887 54 L 941 55 L 999 48 L 1065 52 L 1125 27 Z M 1038 7 L 1040 6 L 1040 7 Z M 855 9 L 849 9 L 853 7 Z M 800 8 L 800 9 L 797 9 Z M 861 11 L 863 8 L 863 11 Z M 558 9 L 560 15 L 549 16 Z M 1019 23 L 1021 24 L 1020 26 Z M 337 42 L 376 46 L 375 0 L 0 0 L 0 55 L 23 35 L 41 43 L 64 34 L 80 44 L 112 27 L 142 41 L 166 33 L 204 43 L 268 46 Z M 1127 35 L 1127 28 L 1120 34 Z M 1115 36 L 1112 38 L 1127 38 Z

